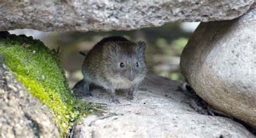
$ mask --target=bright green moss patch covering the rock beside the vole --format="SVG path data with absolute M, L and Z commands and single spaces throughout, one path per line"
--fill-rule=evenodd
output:
M 6 32 L 4 32 L 6 33 Z M 64 135 L 82 116 L 90 113 L 90 103 L 77 101 L 71 94 L 65 72 L 56 52 L 39 40 L 0 34 L 0 56 L 28 92 L 55 113 Z

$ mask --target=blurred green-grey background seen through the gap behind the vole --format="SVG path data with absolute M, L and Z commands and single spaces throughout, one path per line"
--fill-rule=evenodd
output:
M 179 68 L 180 54 L 198 24 L 198 22 L 169 23 L 161 27 L 110 32 L 42 32 L 31 29 L 9 32 L 32 36 L 41 40 L 49 49 L 57 50 L 59 46 L 59 56 L 72 88 L 83 78 L 81 68 L 84 56 L 79 54 L 79 51 L 89 51 L 100 39 L 108 36 L 124 36 L 132 42 L 144 40 L 147 43 L 146 60 L 149 73 L 159 74 L 172 80 L 184 80 Z

